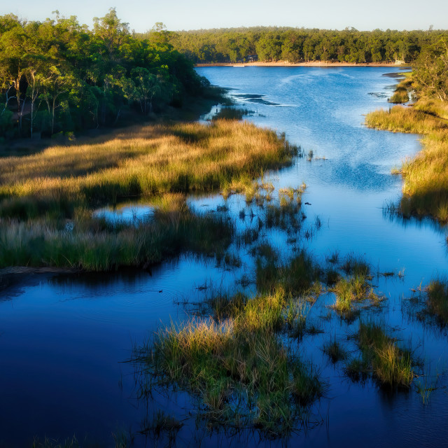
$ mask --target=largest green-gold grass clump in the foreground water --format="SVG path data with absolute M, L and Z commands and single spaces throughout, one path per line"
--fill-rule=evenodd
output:
M 146 364 L 156 384 L 193 393 L 211 424 L 259 428 L 273 437 L 290 433 L 323 385 L 278 335 L 289 314 L 284 291 L 236 297 L 224 305 L 231 318 L 160 330 L 136 349 L 135 360 Z

